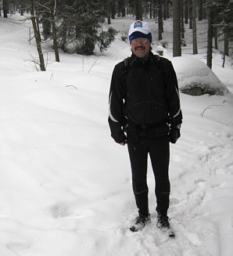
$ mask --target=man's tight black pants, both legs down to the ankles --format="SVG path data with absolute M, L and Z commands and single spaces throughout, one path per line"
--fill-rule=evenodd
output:
M 168 136 L 138 139 L 128 138 L 128 152 L 131 160 L 133 191 L 139 215 L 149 214 L 147 162 L 148 154 L 156 182 L 156 211 L 167 215 L 170 196 L 168 175 L 170 148 Z

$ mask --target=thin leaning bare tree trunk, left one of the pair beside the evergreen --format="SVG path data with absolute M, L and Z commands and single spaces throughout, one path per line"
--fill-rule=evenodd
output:
M 38 49 L 38 55 L 39 55 L 39 59 L 40 59 L 40 68 L 41 71 L 45 71 L 45 61 L 44 61 L 44 56 L 42 53 L 42 49 L 41 49 L 41 41 L 40 41 L 40 37 L 39 37 L 39 31 L 37 28 L 37 24 L 36 24 L 36 19 L 34 16 L 34 0 L 30 0 L 30 20 L 34 29 L 34 37 L 36 40 L 36 44 L 37 44 L 37 49 Z

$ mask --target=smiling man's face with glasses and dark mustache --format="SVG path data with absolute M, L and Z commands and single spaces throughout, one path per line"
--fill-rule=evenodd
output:
M 138 58 L 149 56 L 150 41 L 148 38 L 135 38 L 131 41 L 131 49 Z

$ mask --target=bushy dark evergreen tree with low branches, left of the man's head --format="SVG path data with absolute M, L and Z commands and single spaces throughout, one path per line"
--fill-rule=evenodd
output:
M 57 18 L 59 19 L 59 46 L 67 50 L 74 45 L 77 53 L 91 55 L 95 45 L 101 51 L 107 49 L 114 39 L 116 31 L 102 31 L 106 12 L 102 1 L 64 0 L 58 2 Z

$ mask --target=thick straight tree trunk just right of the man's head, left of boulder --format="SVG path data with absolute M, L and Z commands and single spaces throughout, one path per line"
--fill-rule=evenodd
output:
M 173 0 L 173 56 L 181 56 L 181 1 Z

